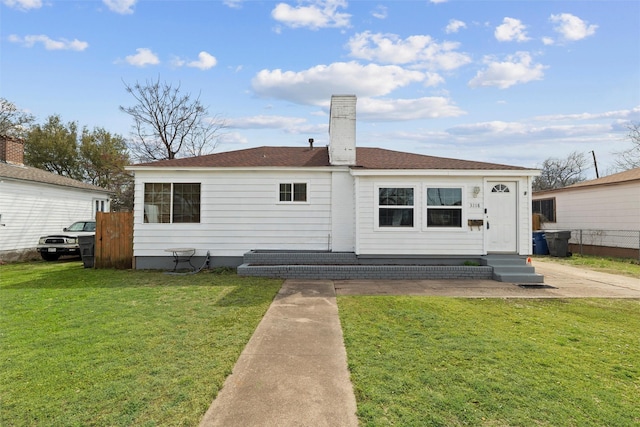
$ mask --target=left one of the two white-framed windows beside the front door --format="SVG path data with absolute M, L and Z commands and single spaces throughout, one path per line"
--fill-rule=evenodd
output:
M 413 227 L 413 188 L 378 188 L 378 226 Z

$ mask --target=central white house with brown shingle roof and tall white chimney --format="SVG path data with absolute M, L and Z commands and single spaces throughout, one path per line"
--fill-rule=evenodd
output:
M 333 96 L 330 144 L 258 147 L 132 166 L 136 268 L 172 247 L 239 265 L 251 250 L 358 257 L 531 253 L 539 171 L 356 148 L 356 98 Z

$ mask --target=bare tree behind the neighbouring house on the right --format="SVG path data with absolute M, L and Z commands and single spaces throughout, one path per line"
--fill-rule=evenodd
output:
M 553 190 L 584 181 L 587 166 L 584 153 L 574 151 L 566 159 L 550 157 L 542 162 L 542 173 L 533 180 L 533 190 Z

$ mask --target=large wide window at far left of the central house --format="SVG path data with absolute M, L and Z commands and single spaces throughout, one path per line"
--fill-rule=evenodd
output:
M 199 183 L 145 183 L 144 222 L 200 222 Z

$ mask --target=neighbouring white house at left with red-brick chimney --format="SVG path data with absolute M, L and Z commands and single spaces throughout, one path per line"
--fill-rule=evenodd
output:
M 35 254 L 40 236 L 109 211 L 109 192 L 23 164 L 24 147 L 0 138 L 0 260 Z

